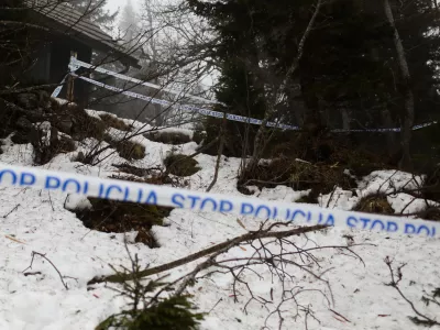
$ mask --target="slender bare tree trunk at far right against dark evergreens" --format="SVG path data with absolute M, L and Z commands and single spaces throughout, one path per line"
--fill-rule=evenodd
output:
M 388 20 L 389 25 L 394 30 L 394 46 L 396 47 L 398 65 L 402 73 L 402 82 L 404 86 L 404 123 L 402 125 L 402 152 L 403 156 L 399 162 L 399 167 L 405 169 L 411 169 L 411 155 L 410 155 L 410 142 L 411 142 L 411 130 L 414 124 L 414 95 L 409 86 L 410 74 L 408 68 L 408 63 L 405 57 L 404 45 L 399 33 L 397 31 L 396 24 L 394 22 L 394 15 L 392 8 L 389 6 L 389 0 L 384 0 L 385 14 Z

